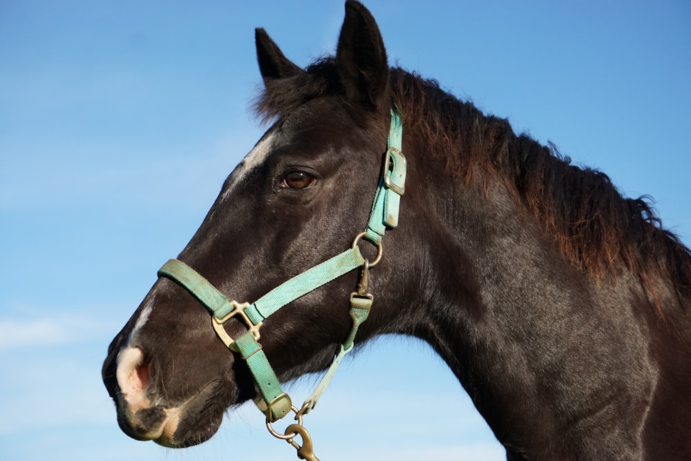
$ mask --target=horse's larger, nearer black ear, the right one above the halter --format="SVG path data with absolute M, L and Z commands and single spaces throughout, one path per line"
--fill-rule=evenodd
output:
M 389 81 L 386 49 L 375 18 L 359 1 L 345 2 L 336 61 L 346 95 L 366 106 L 380 107 Z

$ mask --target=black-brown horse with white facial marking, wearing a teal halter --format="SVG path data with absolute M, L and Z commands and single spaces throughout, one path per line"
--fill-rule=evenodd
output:
M 357 1 L 335 55 L 301 68 L 261 28 L 256 54 L 269 129 L 108 348 L 124 433 L 199 444 L 254 399 L 316 459 L 303 417 L 397 333 L 508 460 L 691 459 L 691 252 L 645 199 L 390 67 Z M 301 408 L 281 390 L 323 370 Z

